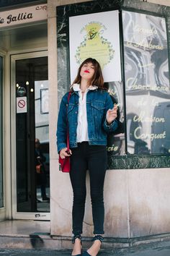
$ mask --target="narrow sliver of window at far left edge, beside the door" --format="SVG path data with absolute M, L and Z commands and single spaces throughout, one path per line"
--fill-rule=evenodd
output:
M 0 57 L 0 208 L 4 207 L 3 163 L 2 163 L 2 74 L 3 58 Z

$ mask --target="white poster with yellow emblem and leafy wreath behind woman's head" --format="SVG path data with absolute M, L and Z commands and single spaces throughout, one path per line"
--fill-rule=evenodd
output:
M 79 65 L 94 58 L 102 67 L 104 82 L 121 81 L 119 12 L 99 12 L 69 18 L 71 82 Z

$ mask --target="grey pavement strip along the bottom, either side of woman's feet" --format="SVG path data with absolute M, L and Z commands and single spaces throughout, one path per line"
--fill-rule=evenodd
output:
M 0 256 L 70 256 L 71 250 L 0 249 Z M 170 242 L 143 244 L 124 249 L 104 249 L 99 256 L 170 256 Z

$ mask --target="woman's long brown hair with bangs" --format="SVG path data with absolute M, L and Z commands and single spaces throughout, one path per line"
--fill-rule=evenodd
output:
M 81 63 L 78 73 L 77 73 L 77 76 L 76 76 L 76 79 L 73 81 L 73 84 L 81 83 L 81 75 L 80 75 L 81 67 L 83 67 L 84 64 L 86 64 L 86 63 L 92 63 L 94 66 L 94 75 L 91 78 L 90 85 L 97 85 L 98 88 L 107 90 L 107 88 L 104 88 L 104 79 L 103 79 L 102 69 L 100 67 L 100 64 L 96 59 L 92 59 L 92 58 L 85 59 Z

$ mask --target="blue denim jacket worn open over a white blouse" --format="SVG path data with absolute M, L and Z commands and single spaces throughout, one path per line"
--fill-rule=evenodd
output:
M 58 152 L 66 148 L 66 111 L 68 104 L 68 93 L 62 100 L 58 114 L 57 146 Z M 113 108 L 113 102 L 109 93 L 97 88 L 89 90 L 86 94 L 86 116 L 88 123 L 89 145 L 107 145 L 107 133 L 117 129 L 117 120 L 107 124 L 106 114 L 109 108 Z M 76 129 L 78 124 L 79 92 L 73 91 L 68 104 L 68 130 L 70 148 L 76 148 Z

